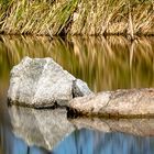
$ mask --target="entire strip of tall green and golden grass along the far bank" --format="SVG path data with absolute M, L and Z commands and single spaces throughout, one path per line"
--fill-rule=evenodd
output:
M 1 0 L 0 32 L 154 35 L 153 0 Z

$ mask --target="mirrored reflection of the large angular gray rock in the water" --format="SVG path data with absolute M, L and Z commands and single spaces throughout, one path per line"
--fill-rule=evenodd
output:
M 64 109 L 35 110 L 12 106 L 9 113 L 13 133 L 31 146 L 52 150 L 75 130 Z

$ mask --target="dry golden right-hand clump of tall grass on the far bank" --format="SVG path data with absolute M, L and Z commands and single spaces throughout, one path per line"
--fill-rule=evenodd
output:
M 153 0 L 82 0 L 72 34 L 154 34 Z

